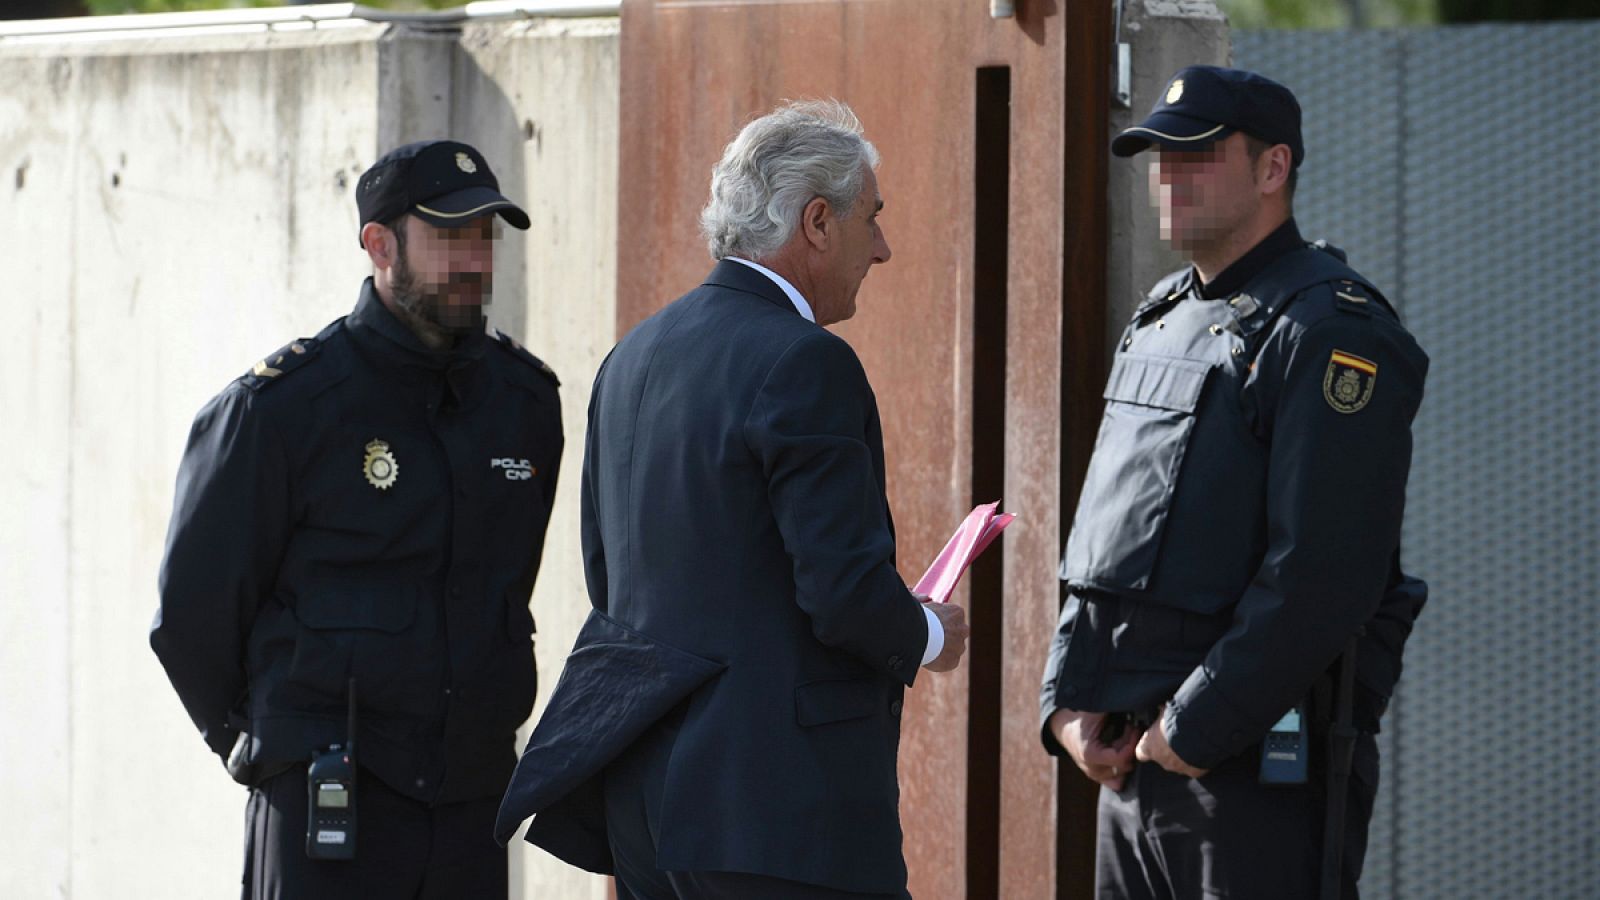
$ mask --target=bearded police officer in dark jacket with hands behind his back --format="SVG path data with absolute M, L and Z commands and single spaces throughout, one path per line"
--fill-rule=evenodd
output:
M 506 897 L 562 420 L 483 306 L 496 215 L 528 215 L 454 141 L 389 152 L 357 205 L 355 309 L 195 418 L 150 645 L 251 788 L 245 897 Z M 307 762 L 352 737 L 354 858 L 312 858 Z

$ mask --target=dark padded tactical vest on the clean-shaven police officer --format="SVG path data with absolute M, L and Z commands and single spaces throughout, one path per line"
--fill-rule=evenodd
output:
M 1216 615 L 1250 586 L 1267 544 L 1270 436 L 1253 388 L 1274 323 L 1328 282 L 1394 312 L 1320 245 L 1285 253 L 1226 299 L 1174 290 L 1186 277 L 1160 282 L 1122 335 L 1059 577 L 1074 591 Z

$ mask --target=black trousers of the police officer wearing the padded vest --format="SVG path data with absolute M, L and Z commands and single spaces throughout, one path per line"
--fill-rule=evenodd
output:
M 1322 889 L 1326 783 L 1266 786 L 1259 754 L 1205 778 L 1141 762 L 1120 793 L 1101 788 L 1094 895 L 1099 900 L 1315 900 Z M 1378 743 L 1355 743 L 1344 815 L 1344 900 L 1355 900 L 1378 794 Z

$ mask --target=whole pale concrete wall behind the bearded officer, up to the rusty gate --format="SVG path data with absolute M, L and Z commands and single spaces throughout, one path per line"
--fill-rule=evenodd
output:
M 245 793 L 146 641 L 178 460 L 211 394 L 354 304 L 354 183 L 402 139 L 477 143 L 534 223 L 499 248 L 491 319 L 566 384 L 534 593 L 554 685 L 587 609 L 576 464 L 614 328 L 616 35 L 352 22 L 0 46 L 0 897 L 237 890 Z M 523 897 L 605 895 L 522 842 L 512 871 Z

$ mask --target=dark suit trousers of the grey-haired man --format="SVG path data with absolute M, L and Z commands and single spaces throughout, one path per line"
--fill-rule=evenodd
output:
M 904 892 L 854 894 L 765 874 L 656 868 L 661 793 L 680 721 L 682 709 L 606 769 L 605 815 L 616 863 L 616 900 L 909 900 Z

